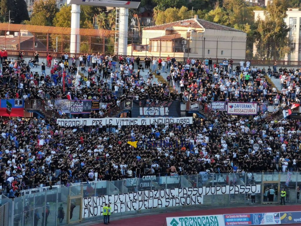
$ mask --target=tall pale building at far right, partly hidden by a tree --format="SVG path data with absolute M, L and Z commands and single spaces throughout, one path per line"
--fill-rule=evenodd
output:
M 258 18 L 264 19 L 264 10 L 254 10 L 255 21 Z M 286 11 L 287 17 L 284 22 L 290 28 L 288 37 L 291 40 L 290 48 L 291 53 L 288 54 L 285 60 L 301 60 L 301 11 L 298 8 L 288 8 Z M 256 48 L 256 46 L 254 46 Z

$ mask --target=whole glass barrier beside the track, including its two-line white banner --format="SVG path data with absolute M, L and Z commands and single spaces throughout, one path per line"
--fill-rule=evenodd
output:
M 38 224 L 48 226 L 95 220 L 101 218 L 105 202 L 112 206 L 112 217 L 189 207 L 211 209 L 278 203 L 283 188 L 286 204 L 292 204 L 299 201 L 300 186 L 300 172 L 140 174 L 140 178 L 25 191 L 25 195 L 13 200 L 11 222 L 16 226 L 33 225 L 37 216 Z

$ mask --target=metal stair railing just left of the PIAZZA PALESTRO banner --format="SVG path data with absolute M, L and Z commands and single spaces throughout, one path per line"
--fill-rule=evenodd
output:
M 26 111 L 39 111 L 42 113 L 45 118 L 58 118 L 59 113 L 56 109 L 48 106 L 47 103 L 40 99 L 25 99 L 24 101 L 24 109 Z

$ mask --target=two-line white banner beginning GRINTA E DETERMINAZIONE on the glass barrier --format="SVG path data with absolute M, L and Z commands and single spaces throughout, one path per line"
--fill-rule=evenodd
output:
M 203 204 L 204 195 L 260 193 L 260 185 L 225 185 L 198 188 L 172 188 L 94 196 L 82 199 L 82 218 L 102 215 L 109 203 L 112 212 Z

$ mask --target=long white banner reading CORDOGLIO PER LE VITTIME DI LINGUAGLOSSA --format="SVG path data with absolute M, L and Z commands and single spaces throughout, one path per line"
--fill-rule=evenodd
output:
M 168 125 L 192 124 L 192 117 L 181 118 L 74 118 L 57 119 L 62 127 L 81 126 L 139 126 L 139 125 Z

